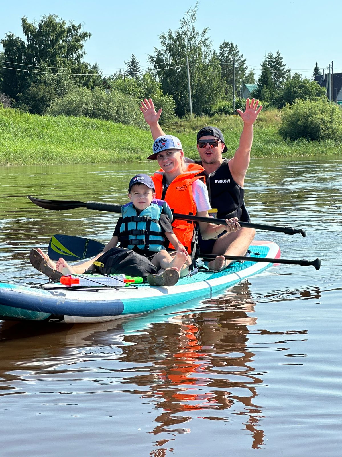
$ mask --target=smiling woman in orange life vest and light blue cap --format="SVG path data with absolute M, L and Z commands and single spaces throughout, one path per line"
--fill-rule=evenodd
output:
M 172 135 L 162 135 L 155 139 L 153 154 L 148 159 L 157 160 L 161 170 L 152 176 L 156 198 L 166 200 L 174 213 L 209 217 L 211 209 L 207 186 L 204 183 L 204 168 L 197 164 L 187 164 L 181 142 Z M 203 239 L 212 239 L 226 230 L 228 233 L 239 230 L 238 218 L 226 219 L 227 225 L 199 222 Z M 176 237 L 186 247 L 189 254 L 194 242 L 195 224 L 175 219 L 172 228 Z M 166 248 L 172 248 L 170 244 Z M 218 255 L 212 263 L 213 270 L 226 266 L 223 255 Z

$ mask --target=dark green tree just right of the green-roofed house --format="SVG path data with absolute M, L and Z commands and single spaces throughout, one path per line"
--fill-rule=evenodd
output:
M 254 94 L 259 100 L 274 101 L 275 92 L 283 87 L 285 81 L 290 77 L 290 69 L 285 69 L 285 66 L 280 51 L 277 51 L 275 55 L 267 54 L 261 64 L 258 88 Z M 264 96 L 268 96 L 268 98 L 263 98 Z

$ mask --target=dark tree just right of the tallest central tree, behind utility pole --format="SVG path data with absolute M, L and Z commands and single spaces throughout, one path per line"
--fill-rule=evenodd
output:
M 246 59 L 239 53 L 238 46 L 224 41 L 220 44 L 218 57 L 221 64 L 221 78 L 224 81 L 224 92 L 227 98 L 233 91 L 233 58 L 235 57 L 235 86 L 240 87 L 247 71 Z

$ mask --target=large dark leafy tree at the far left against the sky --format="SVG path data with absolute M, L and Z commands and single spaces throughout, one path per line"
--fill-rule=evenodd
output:
M 98 85 L 101 74 L 96 64 L 89 68 L 83 62 L 84 42 L 89 32 L 82 32 L 82 24 L 69 24 L 56 15 L 42 16 L 41 21 L 28 22 L 24 16 L 21 26 L 26 41 L 9 33 L 0 41 L 4 48 L 4 62 L 0 69 L 0 90 L 20 103 L 26 90 L 44 92 L 44 74 L 64 75 L 86 87 Z M 31 85 L 34 88 L 31 88 Z M 50 92 L 50 88 L 46 88 Z M 33 94 L 32 94 L 33 95 Z M 49 98 L 49 97 L 48 97 Z

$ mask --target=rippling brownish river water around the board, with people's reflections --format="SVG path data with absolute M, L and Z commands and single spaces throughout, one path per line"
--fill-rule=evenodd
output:
M 52 234 L 106 243 L 117 214 L 47 211 L 27 195 L 126 201 L 155 163 L 3 167 L 2 282 L 38 283 Z M 1 456 L 340 456 L 342 159 L 252 159 L 257 233 L 285 259 L 220 296 L 104 324 L 0 322 Z M 258 451 L 256 451 L 258 450 Z

